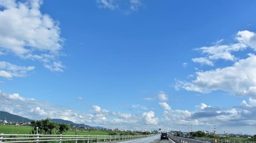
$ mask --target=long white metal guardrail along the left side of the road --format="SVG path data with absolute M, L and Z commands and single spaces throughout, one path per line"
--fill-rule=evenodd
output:
M 29 134 L 0 134 L 1 143 L 91 143 L 110 142 L 148 137 L 149 135 L 134 136 L 91 136 L 91 135 L 29 135 Z

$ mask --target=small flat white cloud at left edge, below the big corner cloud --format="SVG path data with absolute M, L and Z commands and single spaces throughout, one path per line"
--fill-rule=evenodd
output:
M 27 76 L 27 72 L 34 70 L 34 66 L 17 66 L 15 64 L 11 64 L 9 62 L 0 61 L 0 76 L 5 78 L 12 78 L 12 77 L 25 77 Z

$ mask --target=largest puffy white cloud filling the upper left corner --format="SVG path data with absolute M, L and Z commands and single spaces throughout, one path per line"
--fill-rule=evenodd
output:
M 58 57 L 64 39 L 58 22 L 42 14 L 42 0 L 0 1 L 0 55 L 13 53 L 22 59 L 39 60 L 47 69 L 62 71 Z

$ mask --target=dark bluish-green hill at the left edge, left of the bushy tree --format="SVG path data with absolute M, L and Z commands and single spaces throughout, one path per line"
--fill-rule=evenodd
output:
M 18 122 L 18 123 L 25 123 L 25 122 L 30 122 L 32 120 L 24 118 L 22 116 L 18 115 L 13 115 L 8 112 L 0 111 L 0 120 L 4 121 L 6 118 L 7 122 Z

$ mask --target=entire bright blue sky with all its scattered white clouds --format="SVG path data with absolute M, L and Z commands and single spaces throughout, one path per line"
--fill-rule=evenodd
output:
M 256 134 L 256 1 L 0 1 L 0 110 Z

